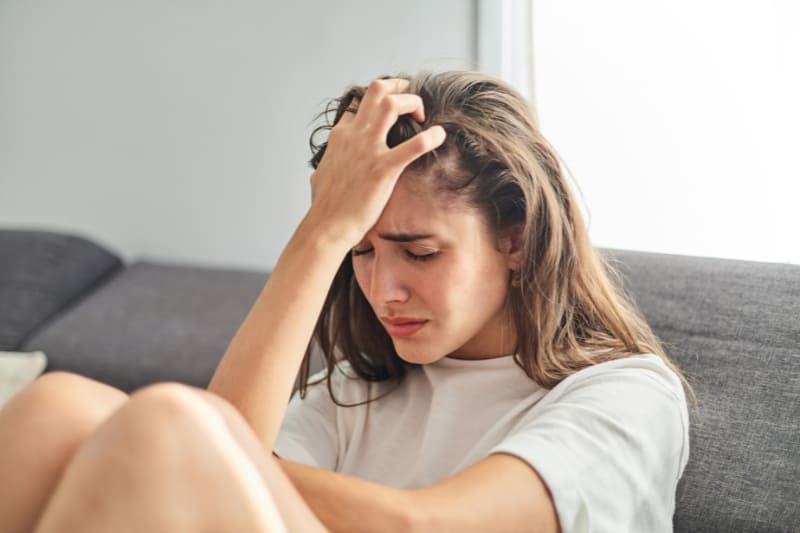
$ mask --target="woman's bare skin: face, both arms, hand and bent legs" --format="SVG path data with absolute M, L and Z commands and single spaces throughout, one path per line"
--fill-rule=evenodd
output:
M 491 357 L 513 345 L 501 287 L 512 248 L 465 206 L 425 216 L 406 185 L 398 186 L 405 168 L 445 135 L 435 126 L 388 148 L 398 116 L 424 120 L 421 99 L 407 89 L 405 80 L 374 81 L 357 112 L 331 130 L 311 178 L 311 208 L 226 350 L 210 393 L 162 384 L 129 398 L 61 374 L 41 378 L 0 411 L 0 443 L 36 450 L 0 454 L 0 494 L 9 498 L 1 530 L 37 523 L 38 531 L 69 524 L 89 532 L 557 530 L 543 482 L 509 455 L 399 491 L 266 452 L 341 259 L 365 239 L 374 255 L 361 256 L 358 275 L 373 308 L 429 320 L 417 338 L 395 341 L 403 357 Z M 384 230 L 429 232 L 435 238 L 424 245 L 441 255 L 424 267 L 409 263 L 398 243 L 380 237 Z M 54 410 L 65 423 L 52 422 Z

